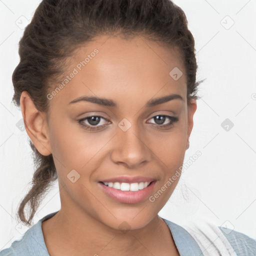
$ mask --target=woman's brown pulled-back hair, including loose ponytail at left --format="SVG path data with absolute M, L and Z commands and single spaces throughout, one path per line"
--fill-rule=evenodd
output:
M 12 74 L 14 104 L 20 106 L 21 92 L 27 91 L 37 110 L 47 113 L 46 95 L 53 81 L 64 74 L 67 57 L 93 37 L 117 32 L 125 38 L 138 32 L 147 39 L 176 46 L 185 66 L 187 103 L 198 98 L 194 38 L 183 10 L 170 0 L 42 0 L 19 41 L 20 61 Z M 27 225 L 31 225 L 51 182 L 57 179 L 52 154 L 41 155 L 29 143 L 36 170 L 17 210 Z

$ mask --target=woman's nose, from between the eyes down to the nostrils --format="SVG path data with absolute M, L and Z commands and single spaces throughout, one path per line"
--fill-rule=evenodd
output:
M 118 123 L 112 160 L 123 162 L 129 167 L 149 160 L 150 152 L 144 142 L 142 130 L 135 122 L 123 118 Z

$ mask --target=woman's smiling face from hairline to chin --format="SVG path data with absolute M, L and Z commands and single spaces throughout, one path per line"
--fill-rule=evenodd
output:
M 196 104 L 187 105 L 174 48 L 144 37 L 98 36 L 86 45 L 48 94 L 45 146 L 57 169 L 61 210 L 115 229 L 139 228 L 179 180 Z

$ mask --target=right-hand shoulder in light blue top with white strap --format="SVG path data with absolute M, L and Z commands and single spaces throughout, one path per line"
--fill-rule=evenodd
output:
M 255 256 L 256 239 L 208 220 L 195 218 L 182 224 L 163 219 L 179 252 L 192 255 Z

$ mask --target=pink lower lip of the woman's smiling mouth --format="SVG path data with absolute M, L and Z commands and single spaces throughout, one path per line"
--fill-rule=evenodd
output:
M 107 195 L 109 195 L 116 201 L 125 203 L 136 203 L 147 198 L 152 193 L 155 182 L 156 180 L 152 181 L 147 187 L 139 189 L 138 191 L 122 191 L 120 189 L 106 186 L 101 182 L 98 182 L 98 184 L 102 187 L 103 191 Z

